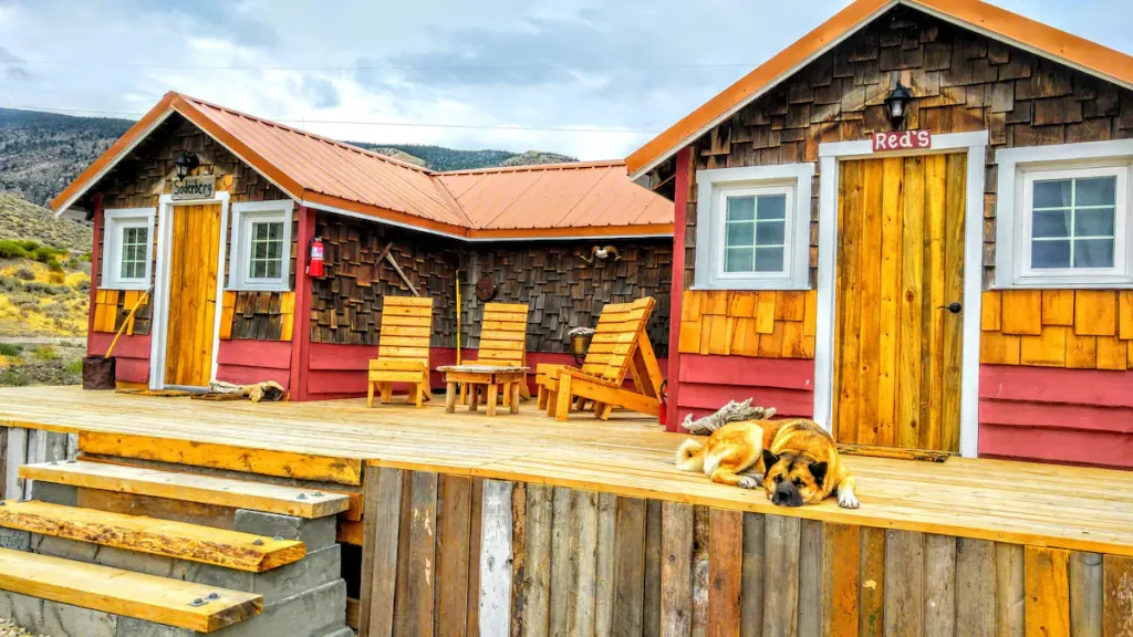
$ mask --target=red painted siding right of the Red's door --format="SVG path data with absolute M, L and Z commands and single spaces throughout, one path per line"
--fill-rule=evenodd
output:
M 980 366 L 982 457 L 1133 468 L 1133 371 Z

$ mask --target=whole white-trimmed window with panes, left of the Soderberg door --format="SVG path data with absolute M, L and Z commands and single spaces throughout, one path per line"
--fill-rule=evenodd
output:
M 102 243 L 102 287 L 110 290 L 150 288 L 153 264 L 153 223 L 156 210 L 107 210 Z

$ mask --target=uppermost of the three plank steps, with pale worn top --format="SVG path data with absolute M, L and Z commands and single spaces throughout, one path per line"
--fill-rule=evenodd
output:
M 26 479 L 70 486 L 253 509 L 308 519 L 333 516 L 350 506 L 350 499 L 339 493 L 82 460 L 24 465 L 19 468 L 19 475 Z

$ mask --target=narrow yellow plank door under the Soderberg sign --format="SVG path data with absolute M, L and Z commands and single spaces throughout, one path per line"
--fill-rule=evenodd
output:
M 216 315 L 220 204 L 177 206 L 172 224 L 165 384 L 207 387 Z

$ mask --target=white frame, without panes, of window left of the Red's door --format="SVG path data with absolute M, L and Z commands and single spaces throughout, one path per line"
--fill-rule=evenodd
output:
M 810 289 L 810 221 L 813 163 L 697 171 L 697 290 Z M 727 199 L 786 195 L 783 219 L 783 270 L 726 272 Z

